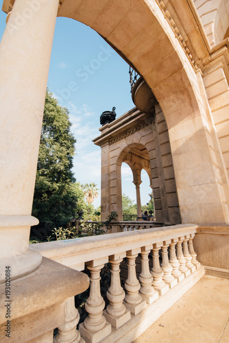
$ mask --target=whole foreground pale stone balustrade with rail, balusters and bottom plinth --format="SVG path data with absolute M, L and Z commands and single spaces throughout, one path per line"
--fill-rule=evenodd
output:
M 133 342 L 204 274 L 193 248 L 196 231 L 196 225 L 179 224 L 30 246 L 44 257 L 91 274 L 88 316 L 75 330 L 79 315 L 69 298 L 55 342 Z M 121 283 L 123 259 L 127 277 Z M 105 309 L 100 280 L 106 263 L 111 277 Z

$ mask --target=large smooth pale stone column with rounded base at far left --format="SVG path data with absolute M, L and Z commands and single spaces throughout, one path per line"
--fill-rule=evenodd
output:
M 58 0 L 16 0 L 0 43 L 0 274 L 36 269 L 28 250 L 36 165 Z

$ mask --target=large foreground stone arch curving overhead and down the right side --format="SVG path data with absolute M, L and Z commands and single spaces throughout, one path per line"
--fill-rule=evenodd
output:
M 209 182 L 203 181 L 202 176 L 193 171 L 200 169 L 200 165 L 203 167 L 203 154 L 211 165 L 208 180 L 214 179 L 215 199 L 220 199 L 215 204 L 218 222 L 229 222 L 228 182 L 224 183 L 224 194 L 218 190 L 222 183 L 219 175 L 226 173 L 226 166 L 217 138 L 213 139 L 213 150 L 208 140 L 209 133 L 216 134 L 198 72 L 200 60 L 209 56 L 209 47 L 200 37 L 198 23 L 193 21 L 196 15 L 189 4 L 182 3 L 180 8 L 176 8 L 172 0 L 167 2 L 167 6 L 163 1 L 65 0 L 58 15 L 81 21 L 95 29 L 135 67 L 152 89 L 167 121 L 182 222 L 192 222 L 193 217 L 198 223 L 206 222 L 204 218 L 209 222 L 208 201 L 212 185 L 209 187 Z M 182 25 L 184 17 L 186 25 Z M 191 147 L 188 137 L 199 143 Z M 190 147 L 186 152 L 187 145 Z M 194 155 L 197 158 L 193 159 Z M 190 174 L 195 172 L 191 184 L 184 175 L 186 159 L 192 161 Z M 216 159 L 219 163 L 215 168 Z M 194 193 L 200 184 L 204 187 L 204 196 L 202 200 L 197 198 L 195 201 Z

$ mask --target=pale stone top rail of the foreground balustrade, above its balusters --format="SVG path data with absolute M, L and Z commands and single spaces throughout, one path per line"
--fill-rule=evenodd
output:
M 111 233 L 110 235 L 31 244 L 29 249 L 71 268 L 84 270 L 85 262 L 101 259 L 101 264 L 106 263 L 108 256 L 183 237 L 196 231 L 195 224 L 178 224 L 128 233 Z

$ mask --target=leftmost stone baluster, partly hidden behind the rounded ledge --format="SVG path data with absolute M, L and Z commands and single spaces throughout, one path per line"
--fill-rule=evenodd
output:
M 80 332 L 77 331 L 76 325 L 80 320 L 80 315 L 75 308 L 74 296 L 65 301 L 65 322 L 58 327 L 58 333 L 54 337 L 54 343 L 83 343 Z

